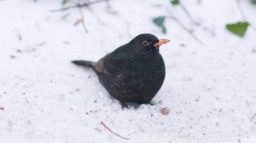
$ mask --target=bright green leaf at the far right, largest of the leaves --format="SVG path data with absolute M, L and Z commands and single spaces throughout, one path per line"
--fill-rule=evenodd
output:
M 226 28 L 232 33 L 240 37 L 243 37 L 245 31 L 247 30 L 248 25 L 248 22 L 238 22 L 237 24 L 226 25 Z

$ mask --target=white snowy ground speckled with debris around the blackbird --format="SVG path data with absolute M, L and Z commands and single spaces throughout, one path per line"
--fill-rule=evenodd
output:
M 0 1 L 1 143 L 255 143 L 256 31 L 249 27 L 241 38 L 225 29 L 243 20 L 236 0 L 182 0 L 201 24 L 194 34 L 203 45 L 173 19 L 165 20 L 166 35 L 154 25 L 152 19 L 169 16 L 168 8 L 191 26 L 169 0 L 83 8 L 89 33 L 74 26 L 77 8 L 49 12 L 61 1 Z M 241 7 L 256 25 L 256 5 L 241 0 Z M 166 78 L 155 106 L 122 111 L 91 69 L 70 61 L 97 61 L 141 33 L 171 40 L 160 48 Z M 161 107 L 170 113 L 163 116 Z

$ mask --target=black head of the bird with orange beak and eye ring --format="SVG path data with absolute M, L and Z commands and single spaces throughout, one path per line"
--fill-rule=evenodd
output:
M 159 56 L 159 46 L 170 42 L 167 39 L 158 39 L 152 34 L 141 34 L 132 39 L 131 47 L 135 52 L 148 58 Z

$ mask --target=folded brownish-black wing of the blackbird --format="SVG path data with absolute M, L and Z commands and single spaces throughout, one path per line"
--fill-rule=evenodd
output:
M 126 67 L 127 57 L 123 54 L 112 52 L 101 58 L 94 67 L 101 73 L 112 76 L 121 76 Z

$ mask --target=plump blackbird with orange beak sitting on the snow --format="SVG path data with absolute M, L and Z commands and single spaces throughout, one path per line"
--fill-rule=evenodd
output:
M 140 34 L 98 62 L 71 62 L 92 68 L 101 85 L 120 101 L 123 110 L 128 108 L 125 102 L 151 104 L 165 79 L 165 64 L 159 46 L 169 41 L 152 34 Z

